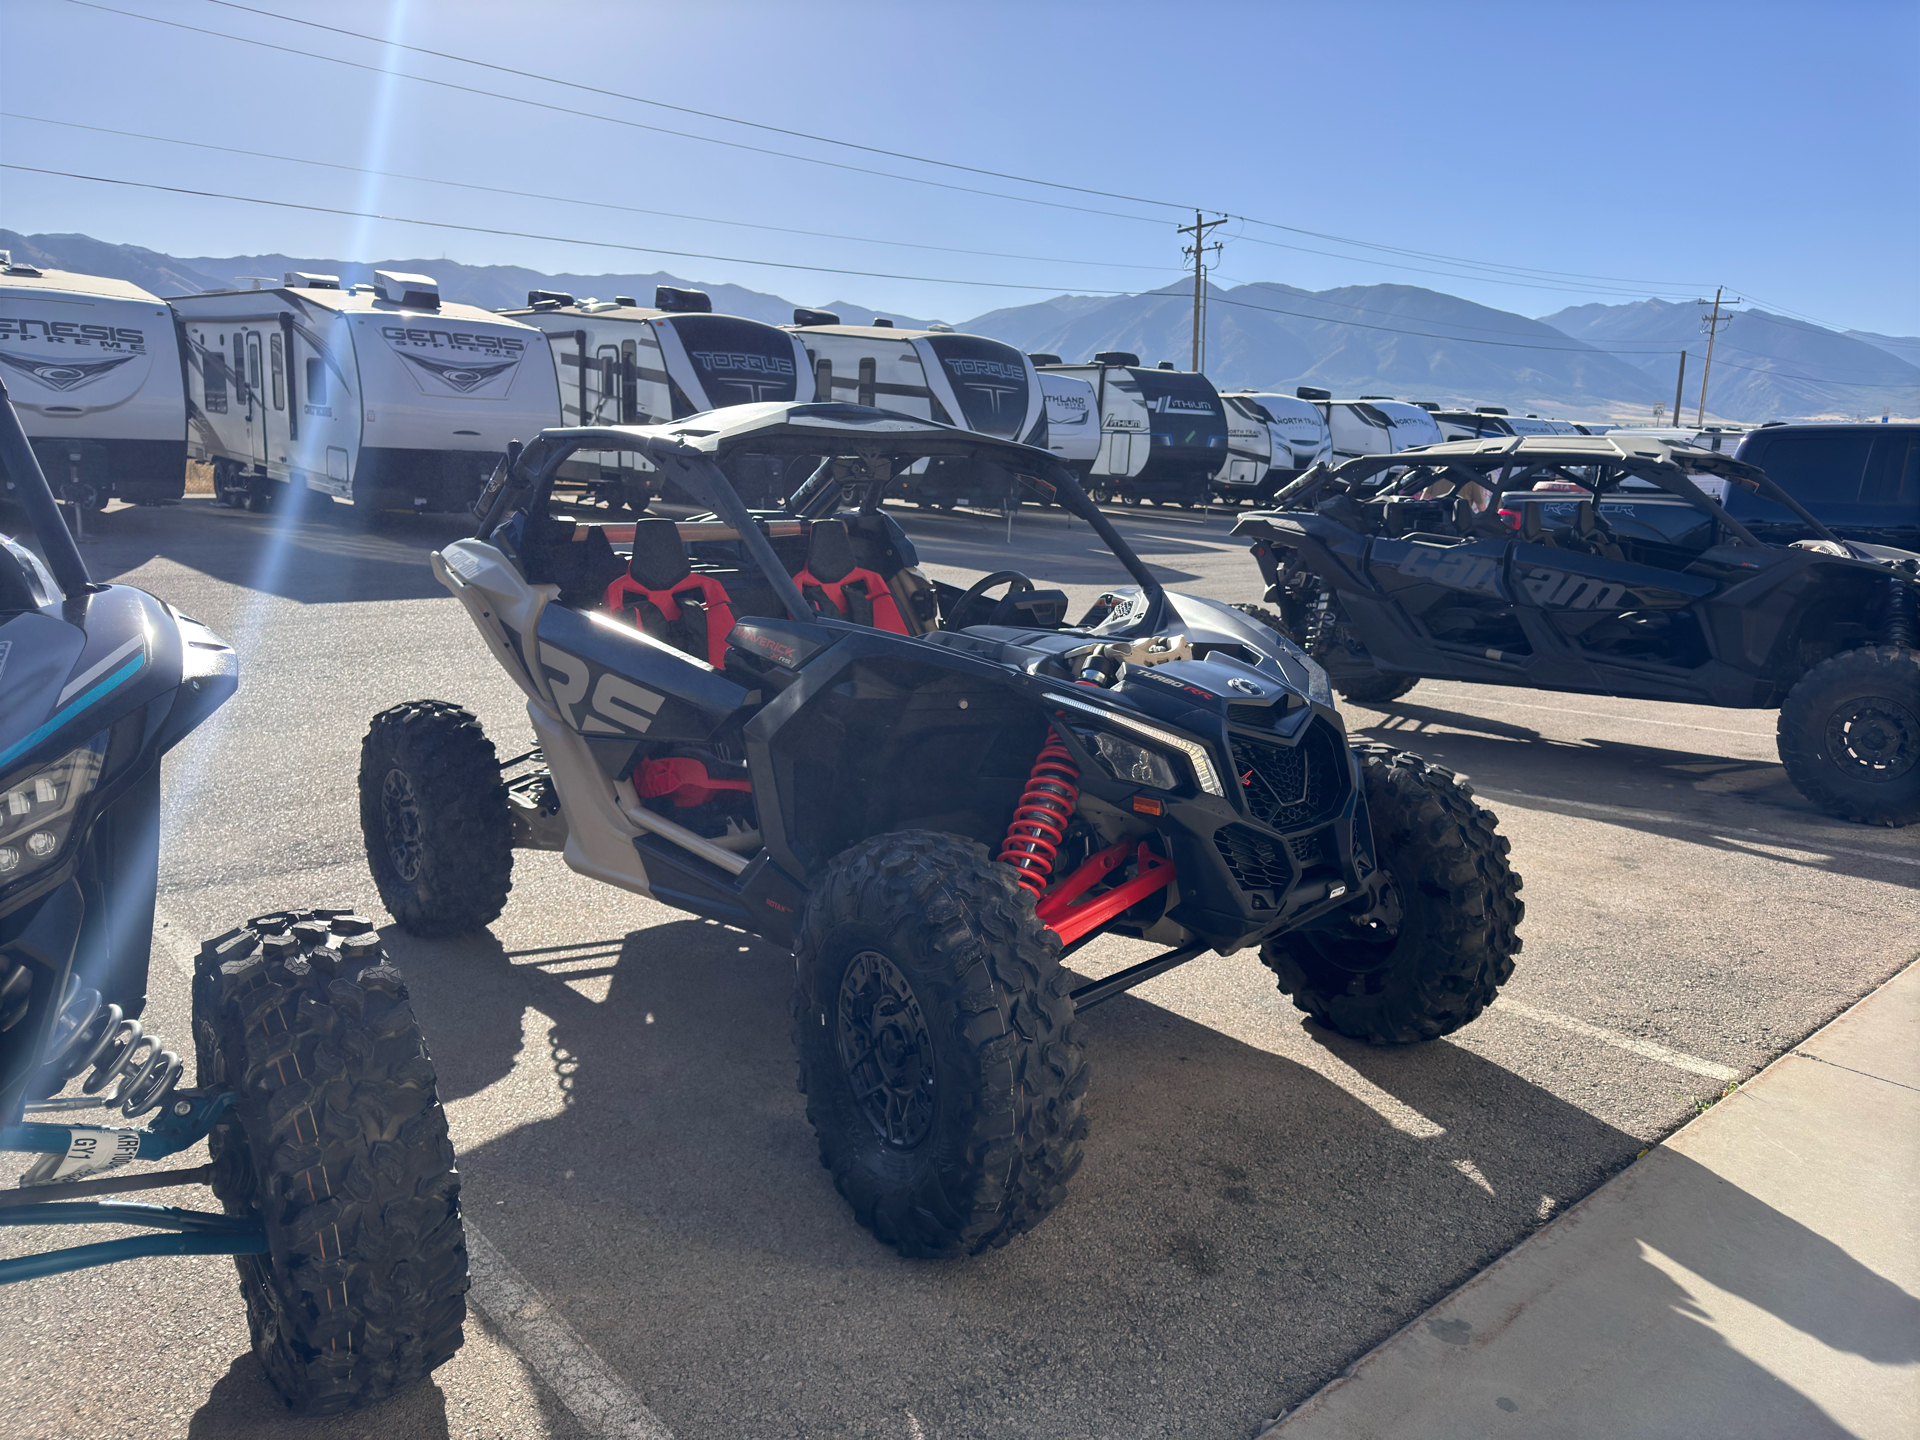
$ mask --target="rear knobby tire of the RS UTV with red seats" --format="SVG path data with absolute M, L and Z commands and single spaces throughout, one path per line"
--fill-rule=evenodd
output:
M 459 705 L 407 701 L 361 741 L 361 835 L 380 902 L 411 935 L 465 935 L 513 889 L 499 756 Z

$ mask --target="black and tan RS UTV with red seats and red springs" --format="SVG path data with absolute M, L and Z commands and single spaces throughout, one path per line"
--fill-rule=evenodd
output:
M 712 511 L 593 524 L 557 476 L 636 449 Z M 824 455 L 783 513 L 735 449 Z M 920 461 L 1056 493 L 1133 586 L 1077 620 L 1014 570 L 922 574 L 881 509 Z M 376 716 L 361 824 L 386 906 L 492 922 L 513 851 L 793 947 L 822 1162 L 906 1256 L 1006 1244 L 1081 1162 L 1077 1012 L 1260 950 L 1315 1020 L 1375 1043 L 1465 1025 L 1511 975 L 1519 877 L 1450 772 L 1350 749 L 1325 672 L 1173 595 L 1043 449 L 860 405 L 743 405 L 549 430 L 432 557 L 526 693 L 505 766 L 444 701 Z M 1158 948 L 1075 983 L 1100 935 Z

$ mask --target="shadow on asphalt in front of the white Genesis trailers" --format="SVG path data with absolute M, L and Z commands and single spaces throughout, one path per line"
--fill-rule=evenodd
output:
M 180 505 L 127 507 L 88 516 L 81 555 L 94 580 L 138 584 L 132 574 L 171 559 L 213 580 L 300 605 L 430 599 L 445 595 L 426 555 L 468 534 L 459 515 L 378 516 L 369 526 L 346 505 L 313 503 L 300 515 L 250 515 L 188 497 Z

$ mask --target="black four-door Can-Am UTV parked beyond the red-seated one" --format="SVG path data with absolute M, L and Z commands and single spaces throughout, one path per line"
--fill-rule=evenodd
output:
M 1812 538 L 1766 543 L 1690 474 Z M 1920 820 L 1920 555 L 1837 538 L 1738 459 L 1644 436 L 1427 445 L 1317 467 L 1233 534 L 1346 699 L 1425 678 L 1780 707 L 1809 801 Z

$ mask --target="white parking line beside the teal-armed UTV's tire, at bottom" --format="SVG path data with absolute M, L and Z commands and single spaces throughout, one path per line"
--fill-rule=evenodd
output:
M 480 1231 L 467 1225 L 468 1300 L 486 1311 L 509 1344 L 597 1440 L 674 1440 L 639 1396 Z

